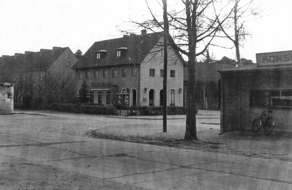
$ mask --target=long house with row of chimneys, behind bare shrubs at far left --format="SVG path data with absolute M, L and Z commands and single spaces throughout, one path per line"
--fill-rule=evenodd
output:
M 72 78 L 74 72 L 71 67 L 76 62 L 77 58 L 68 47 L 40 49 L 39 52 L 25 51 L 24 54 L 15 53 L 13 56 L 3 55 L 0 57 L 1 80 L 15 83 L 16 100 L 20 100 L 25 93 L 47 97 L 50 90 L 41 89 L 49 86 L 49 80 L 46 79 L 62 81 Z M 29 87 L 26 88 L 26 85 Z M 21 89 L 17 92 L 19 88 Z

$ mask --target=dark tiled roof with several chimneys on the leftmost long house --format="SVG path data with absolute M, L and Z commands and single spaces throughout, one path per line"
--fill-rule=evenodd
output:
M 48 69 L 60 55 L 67 49 L 59 48 L 54 50 L 44 50 L 44 52 L 26 52 L 15 57 L 9 56 L 2 59 L 0 57 L 0 65 L 3 69 L 1 72 L 14 71 L 14 72 L 29 72 L 29 71 L 44 71 Z

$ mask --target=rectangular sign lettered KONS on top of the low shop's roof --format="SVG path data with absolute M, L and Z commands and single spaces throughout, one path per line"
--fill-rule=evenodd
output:
M 292 50 L 270 53 L 256 53 L 258 66 L 292 64 Z

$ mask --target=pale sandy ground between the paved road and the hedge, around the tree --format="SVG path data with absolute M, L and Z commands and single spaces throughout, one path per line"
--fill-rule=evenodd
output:
M 258 134 L 235 131 L 219 135 L 220 118 L 202 117 L 215 116 L 214 114 L 218 114 L 218 111 L 201 111 L 201 115 L 198 115 L 197 118 L 199 141 L 191 142 L 183 141 L 185 119 L 169 119 L 167 132 L 163 133 L 162 120 L 111 118 L 52 111 L 41 111 L 37 112 L 38 114 L 26 111 L 26 113 L 29 114 L 25 114 L 25 117 L 23 114 L 19 114 L 20 117 L 17 116 L 18 114 L 6 116 L 6 122 L 10 126 L 22 130 L 40 130 L 67 135 L 292 161 L 291 134 L 273 132 L 267 137 L 261 131 Z M 3 120 L 0 120 L 0 127 L 2 122 Z M 5 123 L 3 124 L 5 125 Z

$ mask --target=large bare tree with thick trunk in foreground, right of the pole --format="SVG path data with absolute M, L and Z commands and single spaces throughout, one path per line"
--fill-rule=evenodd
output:
M 159 16 L 155 15 L 145 0 L 152 15 L 151 20 L 138 22 L 131 20 L 138 27 L 143 27 L 152 32 L 163 30 L 163 21 L 159 21 Z M 203 55 L 208 46 L 214 45 L 213 39 L 216 37 L 220 25 L 229 18 L 229 14 L 218 23 L 218 15 L 213 11 L 216 0 L 181 0 L 176 7 L 183 7 L 182 10 L 172 10 L 167 12 L 169 18 L 169 31 L 172 34 L 170 46 L 188 58 L 188 87 L 187 87 L 187 119 L 185 140 L 197 140 L 196 130 L 196 105 L 195 105 L 195 64 L 198 56 Z M 218 3 L 220 3 L 218 1 Z M 163 6 L 160 4 L 161 8 Z

